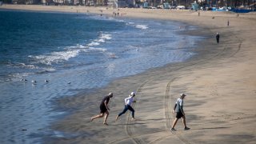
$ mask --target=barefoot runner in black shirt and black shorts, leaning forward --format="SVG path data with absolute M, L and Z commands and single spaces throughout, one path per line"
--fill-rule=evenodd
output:
M 109 106 L 107 106 L 107 105 L 108 105 L 108 103 L 110 102 L 110 98 L 112 98 L 112 97 L 113 97 L 113 93 L 110 93 L 110 94 L 108 94 L 106 97 L 104 97 L 104 98 L 102 99 L 102 103 L 101 103 L 101 105 L 99 106 L 100 114 L 98 114 L 98 115 L 96 115 L 96 116 L 90 118 L 90 121 L 91 121 L 91 122 L 93 122 L 95 118 L 102 118 L 102 117 L 104 116 L 104 114 L 106 114 L 103 124 L 104 124 L 104 125 L 108 125 L 108 124 L 106 123 L 106 119 L 107 119 L 107 117 L 108 117 L 109 114 L 110 114 L 110 113 L 109 113 L 110 108 L 109 108 Z

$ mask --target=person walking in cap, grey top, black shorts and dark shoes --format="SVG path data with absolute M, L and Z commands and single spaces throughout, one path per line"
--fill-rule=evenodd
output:
M 184 125 L 184 130 L 190 130 L 189 127 L 186 126 L 186 117 L 185 113 L 183 110 L 183 99 L 186 97 L 186 94 L 180 94 L 180 98 L 177 99 L 175 106 L 174 106 L 174 111 L 176 113 L 176 118 L 174 119 L 173 126 L 171 126 L 171 131 L 175 131 L 174 126 L 178 122 L 179 118 L 182 118 L 182 122 Z

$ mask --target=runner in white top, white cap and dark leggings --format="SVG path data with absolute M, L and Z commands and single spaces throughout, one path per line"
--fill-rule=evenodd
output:
M 122 110 L 122 112 L 120 114 L 117 115 L 117 117 L 115 118 L 115 120 L 117 121 L 118 118 L 122 115 L 122 114 L 125 114 L 127 110 L 130 110 L 131 111 L 131 114 L 132 114 L 132 117 L 133 119 L 132 120 L 136 120 L 134 118 L 134 109 L 131 107 L 132 103 L 133 102 L 136 102 L 134 100 L 134 97 L 135 97 L 135 93 L 134 92 L 131 92 L 129 97 L 128 98 L 125 98 L 125 102 L 126 102 L 126 105 L 125 105 L 125 108 Z

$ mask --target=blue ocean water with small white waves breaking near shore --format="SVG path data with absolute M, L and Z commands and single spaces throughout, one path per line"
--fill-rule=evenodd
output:
M 0 143 L 41 143 L 67 112 L 54 99 L 185 62 L 202 39 L 164 20 L 0 10 Z

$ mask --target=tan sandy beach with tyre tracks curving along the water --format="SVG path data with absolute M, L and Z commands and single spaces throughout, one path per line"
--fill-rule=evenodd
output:
M 46 10 L 104 14 L 120 17 L 164 19 L 198 26 L 184 33 L 204 36 L 197 44 L 198 55 L 147 70 L 142 74 L 119 78 L 101 90 L 75 97 L 59 98 L 58 108 L 72 113 L 51 128 L 62 131 L 58 137 L 46 137 L 44 143 L 254 143 L 256 141 L 256 14 L 232 12 L 111 9 L 84 6 L 15 6 L 0 9 Z M 227 21 L 230 26 L 227 26 Z M 180 27 L 183 29 L 184 27 Z M 217 44 L 215 34 L 220 34 Z M 137 121 L 130 113 L 115 122 L 123 109 L 123 99 L 136 93 L 133 107 Z M 104 95 L 110 99 L 109 126 L 98 114 Z M 183 130 L 182 120 L 171 132 L 175 115 L 174 102 L 180 93 L 187 94 L 184 110 L 190 130 Z M 90 103 L 85 105 L 84 103 Z

